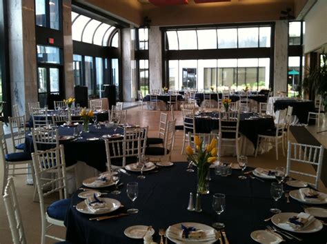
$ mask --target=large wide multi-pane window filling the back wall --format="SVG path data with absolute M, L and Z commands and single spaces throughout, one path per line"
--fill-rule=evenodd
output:
M 168 77 L 163 85 L 172 90 L 261 90 L 272 85 L 273 23 L 161 31 Z

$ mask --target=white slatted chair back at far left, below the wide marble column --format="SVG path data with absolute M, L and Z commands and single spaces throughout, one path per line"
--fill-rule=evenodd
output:
M 12 140 L 12 148 L 16 152 L 16 146 L 25 142 L 25 115 L 8 117 L 10 134 Z

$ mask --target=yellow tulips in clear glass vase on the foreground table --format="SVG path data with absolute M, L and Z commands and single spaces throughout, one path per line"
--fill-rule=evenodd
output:
M 203 145 L 199 136 L 194 137 L 195 149 L 190 145 L 186 148 L 188 160 L 197 166 L 197 192 L 199 194 L 209 194 L 209 167 L 217 160 L 217 140 L 212 139 L 210 144 Z

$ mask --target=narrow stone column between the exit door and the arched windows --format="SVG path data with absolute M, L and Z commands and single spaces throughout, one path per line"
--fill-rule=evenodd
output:
M 63 74 L 66 98 L 74 96 L 74 79 L 72 70 L 72 1 L 63 0 Z

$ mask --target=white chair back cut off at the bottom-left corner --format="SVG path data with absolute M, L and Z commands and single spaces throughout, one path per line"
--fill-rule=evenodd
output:
M 21 221 L 21 212 L 19 211 L 17 194 L 14 188 L 14 180 L 12 177 L 8 179 L 8 183 L 3 194 L 3 202 L 5 203 L 8 216 L 10 231 L 12 235 L 12 243 L 26 244 L 23 222 Z

